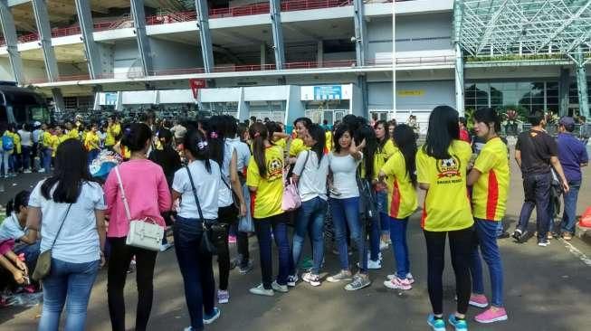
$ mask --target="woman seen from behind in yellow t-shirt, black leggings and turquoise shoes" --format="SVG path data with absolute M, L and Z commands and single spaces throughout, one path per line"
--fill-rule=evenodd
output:
M 427 322 L 434 329 L 445 328 L 442 277 L 448 236 L 458 298 L 457 311 L 448 320 L 456 329 L 468 327 L 465 314 L 471 291 L 474 220 L 466 167 L 471 156 L 470 145 L 460 140 L 458 112 L 449 106 L 435 107 L 429 116 L 424 146 L 416 154 L 417 181 L 425 191 L 421 226 L 427 246 L 427 287 L 433 307 Z

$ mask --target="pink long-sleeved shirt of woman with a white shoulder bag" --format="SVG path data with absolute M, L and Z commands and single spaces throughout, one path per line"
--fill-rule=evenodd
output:
M 150 218 L 164 227 L 161 212 L 170 209 L 170 190 L 160 165 L 149 160 L 130 160 L 119 165 L 121 181 L 128 198 L 131 219 Z M 117 174 L 111 171 L 103 187 L 110 215 L 107 237 L 125 237 L 129 232 L 129 220 L 121 199 Z

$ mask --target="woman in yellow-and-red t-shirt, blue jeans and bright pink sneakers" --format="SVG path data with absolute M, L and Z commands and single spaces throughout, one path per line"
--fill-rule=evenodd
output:
M 472 186 L 472 213 L 482 257 L 491 271 L 491 307 L 475 317 L 477 322 L 491 323 L 507 319 L 503 307 L 503 270 L 497 234 L 502 232 L 509 192 L 510 170 L 507 146 L 500 140 L 500 118 L 491 108 L 474 112 L 474 131 L 486 140 L 468 175 Z M 481 254 L 476 247 L 472 255 L 472 296 L 470 302 L 481 307 L 488 305 L 482 282 Z

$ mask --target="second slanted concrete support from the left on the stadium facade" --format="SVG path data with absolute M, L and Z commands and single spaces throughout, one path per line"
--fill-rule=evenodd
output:
M 47 4 L 44 0 L 33 0 L 33 14 L 35 23 L 37 24 L 37 31 L 39 32 L 39 43 L 41 43 L 47 79 L 49 81 L 56 81 L 59 72 L 52 46 L 52 27 L 49 24 Z

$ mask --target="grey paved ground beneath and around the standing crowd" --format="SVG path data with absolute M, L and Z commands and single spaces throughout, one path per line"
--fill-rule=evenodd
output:
M 520 212 L 523 193 L 519 170 L 511 179 L 508 215 L 505 225 L 514 228 Z M 35 175 L 5 181 L 6 192 L 0 194 L 0 203 L 16 190 L 30 188 L 38 180 Z M 584 184 L 579 195 L 578 213 L 591 202 L 591 171 L 586 169 Z M 370 288 L 347 292 L 342 285 L 325 282 L 319 288 L 299 283 L 290 293 L 273 298 L 255 297 L 248 288 L 260 280 L 256 242 L 251 242 L 255 269 L 242 276 L 231 273 L 231 302 L 222 308 L 222 317 L 208 330 L 426 330 L 425 317 L 430 311 L 426 291 L 426 254 L 424 238 L 419 229 L 419 214 L 409 225 L 409 245 L 415 288 L 399 293 L 382 285 L 386 274 L 392 273 L 394 259 L 386 252 L 382 270 L 371 273 L 374 283 Z M 532 224 L 534 225 L 534 224 Z M 532 228 L 533 230 L 533 228 Z M 547 248 L 539 248 L 535 240 L 517 244 L 510 239 L 500 241 L 505 268 L 505 301 L 510 315 L 507 322 L 492 326 L 470 323 L 477 330 L 588 330 L 591 323 L 591 245 L 578 239 L 567 243 L 551 241 Z M 337 256 L 327 255 L 325 271 L 338 270 Z M 88 329 L 108 330 L 110 320 L 107 309 L 106 273 L 100 272 L 92 291 Z M 127 290 L 128 326 L 135 320 L 135 280 L 129 277 Z M 155 278 L 156 294 L 149 328 L 152 330 L 182 330 L 188 324 L 181 276 L 174 251 L 160 253 Z M 447 263 L 444 279 L 444 309 L 453 312 L 453 277 L 451 263 Z M 487 292 L 490 292 L 488 280 Z M 0 310 L 0 330 L 33 330 L 38 322 L 40 307 L 4 308 Z M 472 318 L 480 309 L 470 308 Z M 449 329 L 449 328 L 448 328 Z

